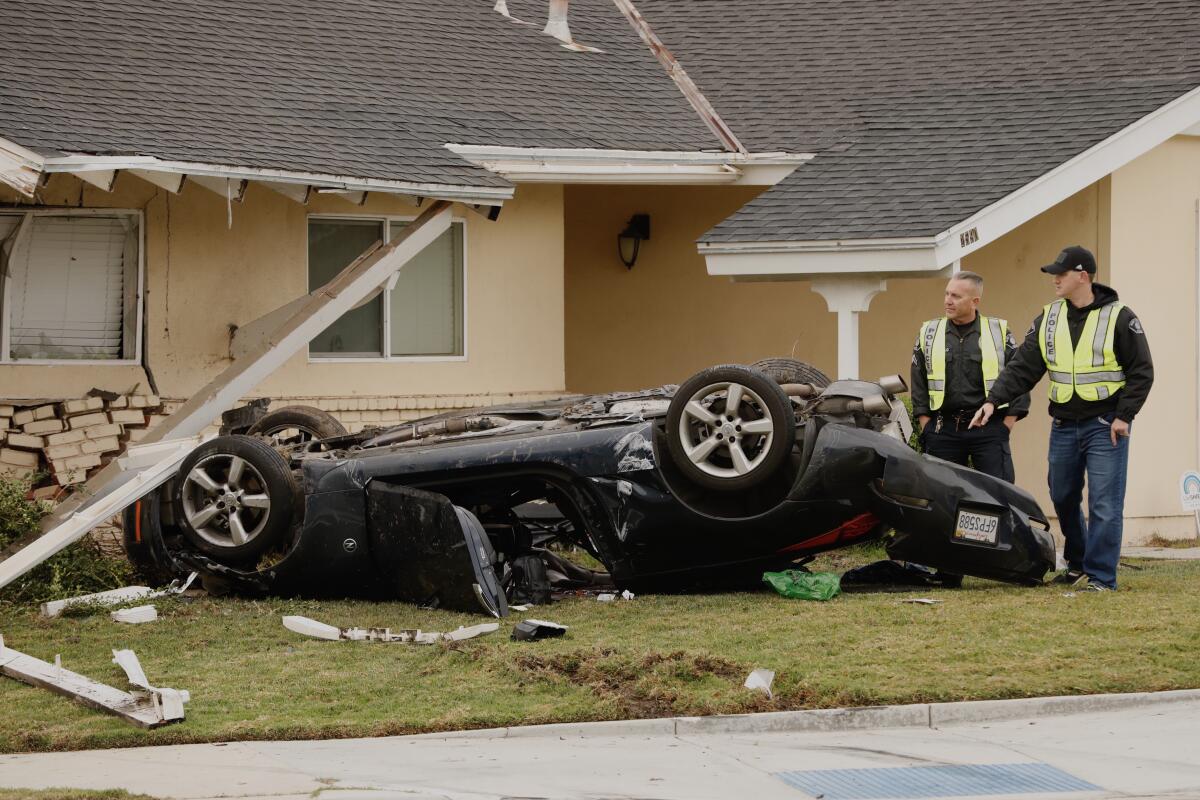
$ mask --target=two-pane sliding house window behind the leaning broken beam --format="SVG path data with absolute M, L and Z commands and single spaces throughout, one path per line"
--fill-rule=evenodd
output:
M 407 221 L 313 217 L 308 221 L 308 289 L 325 284 L 372 243 L 400 235 Z M 406 264 L 390 288 L 343 314 L 308 345 L 313 359 L 445 359 L 463 348 L 463 223 Z

